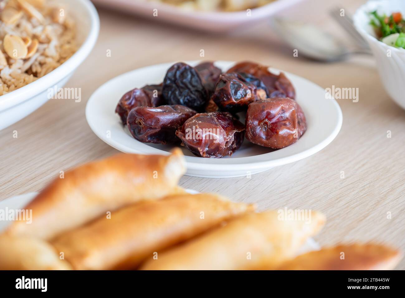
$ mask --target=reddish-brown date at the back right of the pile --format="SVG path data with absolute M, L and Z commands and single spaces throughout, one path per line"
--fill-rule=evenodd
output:
M 239 62 L 235 66 L 231 67 L 228 73 L 249 73 L 254 75 L 255 77 L 259 78 L 263 84 L 269 90 L 269 94 L 271 95 L 274 91 L 279 91 L 285 94 L 286 97 L 290 97 L 291 99 L 295 99 L 295 89 L 292 86 L 291 81 L 284 75 L 284 73 L 280 73 L 279 75 L 275 75 L 271 73 L 267 66 L 260 65 L 255 62 Z

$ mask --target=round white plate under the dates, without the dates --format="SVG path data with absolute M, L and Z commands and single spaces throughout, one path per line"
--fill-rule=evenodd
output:
M 195 65 L 198 61 L 187 62 Z M 115 114 L 121 96 L 135 87 L 156 84 L 163 80 L 173 64 L 157 64 L 136 69 L 111 79 L 98 88 L 86 105 L 86 118 L 94 133 L 110 146 L 126 153 L 168 154 L 169 145 L 144 144 L 134 139 Z M 227 70 L 234 62 L 218 61 L 215 65 Z M 277 72 L 275 69 L 271 71 Z M 204 178 L 230 178 L 266 171 L 272 167 L 298 161 L 326 147 L 339 133 L 342 111 L 334 99 L 325 98 L 325 90 L 311 81 L 286 73 L 294 84 L 297 102 L 307 118 L 307 131 L 294 144 L 271 150 L 245 140 L 232 157 L 210 159 L 196 157 L 183 148 L 188 176 Z

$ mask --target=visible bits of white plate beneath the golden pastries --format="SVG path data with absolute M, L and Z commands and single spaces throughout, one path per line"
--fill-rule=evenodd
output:
M 198 191 L 195 191 L 193 189 L 186 189 L 186 191 L 191 194 L 198 193 Z M 5 210 L 6 208 L 8 208 L 8 210 L 20 210 L 24 208 L 24 206 L 26 206 L 29 202 L 31 202 L 37 194 L 38 193 L 26 193 L 24 195 L 16 195 L 15 197 L 0 201 L 0 210 Z M 3 232 L 9 224 L 11 224 L 10 221 L 0 221 L 0 233 Z M 298 251 L 298 255 L 301 253 L 319 249 L 319 244 L 312 238 L 309 238 L 305 245 L 303 245 L 303 247 L 301 247 L 301 249 Z

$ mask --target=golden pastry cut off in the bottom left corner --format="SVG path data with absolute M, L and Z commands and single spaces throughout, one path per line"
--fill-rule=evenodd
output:
M 48 243 L 29 237 L 0 235 L 0 270 L 71 270 Z

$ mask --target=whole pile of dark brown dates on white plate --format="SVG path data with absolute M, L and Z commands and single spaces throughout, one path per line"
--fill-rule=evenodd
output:
M 213 62 L 175 63 L 161 84 L 126 92 L 115 112 L 138 141 L 181 143 L 198 157 L 230 156 L 245 137 L 281 149 L 307 129 L 291 81 L 254 62 L 237 63 L 226 73 Z

